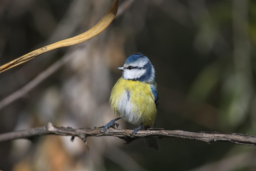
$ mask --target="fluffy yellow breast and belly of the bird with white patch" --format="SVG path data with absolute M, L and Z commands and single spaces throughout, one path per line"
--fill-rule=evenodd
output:
M 113 112 L 132 124 L 154 125 L 157 109 L 150 84 L 119 78 L 110 95 Z

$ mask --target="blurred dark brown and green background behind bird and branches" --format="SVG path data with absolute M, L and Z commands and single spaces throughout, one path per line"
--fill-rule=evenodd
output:
M 83 33 L 111 4 L 1 0 L 0 64 Z M 74 128 L 105 125 L 115 118 L 108 100 L 121 76 L 117 67 L 142 52 L 156 70 L 156 127 L 256 136 L 255 44 L 253 0 L 120 0 L 119 14 L 98 36 L 0 74 L 0 132 L 47 122 Z M 1 142 L 0 170 L 256 170 L 255 147 L 180 138 L 159 142 L 160 151 L 147 148 L 142 139 L 124 145 L 115 137 L 88 138 L 90 151 L 78 138 L 71 142 L 54 135 L 34 143 Z

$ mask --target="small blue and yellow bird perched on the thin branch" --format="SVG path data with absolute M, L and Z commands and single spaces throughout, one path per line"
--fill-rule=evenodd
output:
M 103 133 L 112 125 L 119 126 L 115 121 L 122 119 L 139 127 L 133 129 L 133 135 L 144 126 L 145 129 L 155 125 L 159 104 L 155 69 L 150 60 L 142 53 L 129 56 L 123 67 L 118 67 L 122 76 L 117 80 L 110 94 L 110 105 L 118 117 L 103 127 Z M 149 147 L 159 149 L 155 138 L 146 138 Z

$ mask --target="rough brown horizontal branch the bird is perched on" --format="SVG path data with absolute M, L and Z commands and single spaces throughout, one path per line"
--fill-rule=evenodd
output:
M 102 133 L 102 128 L 85 128 L 85 129 L 73 129 L 71 127 L 54 127 L 52 123 L 48 123 L 44 127 L 37 127 L 27 130 L 14 131 L 10 133 L 0 134 L 0 142 L 15 140 L 20 138 L 33 139 L 40 135 L 63 135 L 81 138 L 86 142 L 86 138 L 90 136 L 115 136 L 125 140 L 125 144 L 135 140 L 137 138 L 185 138 L 191 140 L 200 140 L 207 143 L 215 141 L 233 142 L 235 144 L 243 145 L 256 145 L 256 138 L 248 135 L 242 135 L 238 133 L 216 133 L 216 132 L 188 132 L 181 130 L 141 130 L 136 135 L 132 135 L 132 130 L 125 129 L 108 129 L 105 134 Z

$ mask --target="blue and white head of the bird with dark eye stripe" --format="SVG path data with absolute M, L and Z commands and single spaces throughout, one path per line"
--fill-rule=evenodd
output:
M 155 69 L 150 60 L 142 53 L 129 56 L 124 63 L 124 67 L 118 69 L 123 70 L 122 78 L 125 80 L 155 81 Z

